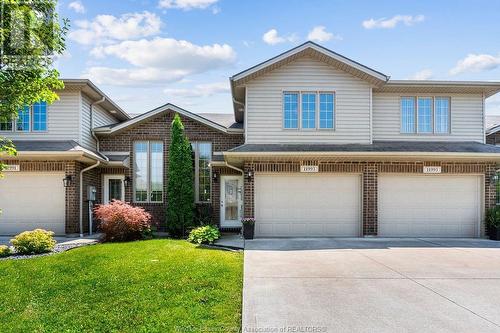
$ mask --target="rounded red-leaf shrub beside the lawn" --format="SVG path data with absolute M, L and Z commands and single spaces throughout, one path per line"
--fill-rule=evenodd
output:
M 113 200 L 109 204 L 97 206 L 94 214 L 101 220 L 99 229 L 106 242 L 137 240 L 151 233 L 151 214 L 142 207 Z

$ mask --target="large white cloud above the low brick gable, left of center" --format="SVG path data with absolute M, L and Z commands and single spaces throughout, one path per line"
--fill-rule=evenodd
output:
M 89 77 L 97 83 L 117 85 L 175 82 L 236 61 L 236 53 L 227 44 L 199 46 L 160 37 L 99 46 L 92 54 L 114 56 L 133 65 L 132 68 L 91 67 L 88 70 Z

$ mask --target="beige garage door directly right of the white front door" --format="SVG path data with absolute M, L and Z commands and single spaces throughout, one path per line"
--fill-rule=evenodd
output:
M 255 176 L 256 237 L 357 237 L 359 175 Z

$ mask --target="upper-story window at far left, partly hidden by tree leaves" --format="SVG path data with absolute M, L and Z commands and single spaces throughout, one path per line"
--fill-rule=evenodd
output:
M 15 120 L 0 120 L 0 131 L 43 132 L 47 130 L 47 103 L 39 102 L 19 110 Z

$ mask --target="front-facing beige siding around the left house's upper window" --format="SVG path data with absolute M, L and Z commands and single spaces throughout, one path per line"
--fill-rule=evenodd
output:
M 13 140 L 75 140 L 78 141 L 80 93 L 58 92 L 59 100 L 47 106 L 47 131 L 0 131 L 0 136 Z

